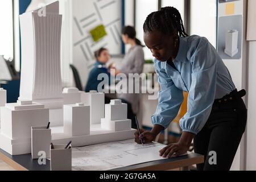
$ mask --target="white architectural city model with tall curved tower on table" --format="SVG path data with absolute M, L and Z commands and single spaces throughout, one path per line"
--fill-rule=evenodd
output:
M 105 112 L 104 93 L 76 88 L 61 92 L 59 2 L 46 6 L 46 16 L 37 11 L 20 16 L 20 97 L 17 103 L 1 107 L 0 148 L 11 155 L 30 154 L 31 127 L 48 122 L 53 144 L 72 140 L 72 147 L 80 147 L 133 138 L 127 106 L 121 101 L 106 105 Z

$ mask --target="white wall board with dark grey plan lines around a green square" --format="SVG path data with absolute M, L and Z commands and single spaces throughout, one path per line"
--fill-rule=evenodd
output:
M 72 3 L 72 64 L 79 71 L 85 86 L 95 63 L 94 52 L 105 47 L 110 54 L 122 53 L 122 1 L 76 0 Z M 94 42 L 90 30 L 103 24 L 107 35 Z

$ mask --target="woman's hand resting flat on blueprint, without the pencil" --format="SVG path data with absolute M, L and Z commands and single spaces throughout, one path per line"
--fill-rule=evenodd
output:
M 181 142 L 169 144 L 160 150 L 160 156 L 163 158 L 176 158 L 179 155 L 185 154 L 189 150 L 189 146 Z

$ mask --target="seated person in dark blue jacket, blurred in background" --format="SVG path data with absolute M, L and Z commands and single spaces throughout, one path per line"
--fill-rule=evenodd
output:
M 110 73 L 109 68 L 106 67 L 106 63 L 108 63 L 110 59 L 109 51 L 106 48 L 100 48 L 98 51 L 94 53 L 96 58 L 96 63 L 93 66 L 92 71 L 89 73 L 88 81 L 85 86 L 85 92 L 90 92 L 90 90 L 98 90 L 98 85 L 102 82 L 102 80 L 98 80 L 98 75 L 101 73 L 105 73 L 109 77 L 109 85 L 110 85 Z M 105 97 L 105 103 L 109 104 L 110 99 Z

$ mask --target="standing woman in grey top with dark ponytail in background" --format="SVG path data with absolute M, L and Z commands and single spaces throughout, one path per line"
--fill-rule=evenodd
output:
M 115 76 L 119 73 L 125 74 L 127 78 L 129 73 L 138 73 L 140 75 L 144 67 L 144 46 L 136 38 L 135 28 L 131 26 L 124 27 L 122 30 L 122 40 L 123 43 L 131 47 L 123 59 L 121 69 L 115 70 Z M 132 127 L 137 129 L 134 114 L 138 114 L 139 111 L 139 93 L 128 93 L 128 90 L 129 88 L 126 88 L 127 93 L 118 94 L 118 98 L 127 104 L 127 118 L 131 119 Z

